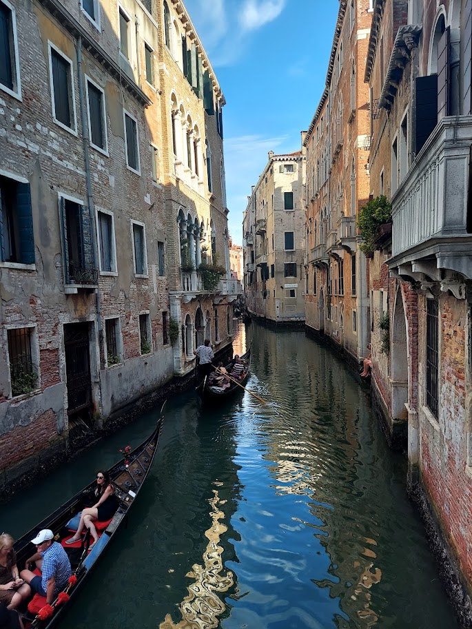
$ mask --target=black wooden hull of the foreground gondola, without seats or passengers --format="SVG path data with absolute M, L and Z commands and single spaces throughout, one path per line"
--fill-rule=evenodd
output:
M 88 580 L 88 575 L 96 566 L 99 557 L 101 557 L 105 549 L 110 546 L 112 537 L 114 537 L 119 528 L 121 528 L 123 522 L 125 522 L 127 513 L 132 504 L 134 504 L 136 496 L 139 491 L 141 491 L 141 487 L 143 486 L 147 474 L 150 471 L 152 462 L 154 461 L 154 457 L 156 455 L 162 426 L 163 418 L 160 417 L 154 433 L 152 433 L 152 435 L 150 435 L 150 437 L 148 437 L 147 440 L 145 440 L 145 442 L 143 442 L 140 446 L 134 448 L 134 450 L 128 455 L 128 466 L 125 466 L 125 461 L 123 460 L 108 470 L 108 473 L 114 483 L 115 495 L 119 499 L 119 508 L 114 514 L 110 524 L 108 524 L 105 530 L 103 530 L 103 533 L 101 537 L 99 537 L 99 541 L 96 542 L 94 548 L 92 548 L 92 550 L 88 550 L 87 543 L 86 547 L 83 548 L 79 566 L 75 566 L 74 564 L 72 565 L 72 573 L 76 576 L 76 584 L 68 591 L 70 600 L 65 604 L 54 607 L 54 615 L 44 621 L 41 621 L 38 617 L 34 617 L 33 615 L 31 625 L 32 629 L 52 629 L 52 627 L 56 626 L 57 623 L 61 621 L 68 608 L 70 608 L 72 600 L 76 598 L 81 586 L 83 586 L 83 584 L 85 584 Z M 96 482 L 92 482 L 90 485 L 85 487 L 74 497 L 65 502 L 65 504 L 63 504 L 60 508 L 54 511 L 54 513 L 52 513 L 49 517 L 45 518 L 43 522 L 40 522 L 32 530 L 23 535 L 23 537 L 14 544 L 14 550 L 17 553 L 17 564 L 19 566 L 22 567 L 25 559 L 30 557 L 32 554 L 33 548 L 31 540 L 36 537 L 39 530 L 42 530 L 43 528 L 50 528 L 56 536 L 55 539 L 58 539 L 58 537 L 59 539 L 63 539 L 65 535 L 67 535 L 68 529 L 66 528 L 66 524 L 68 524 L 71 517 L 80 511 L 83 494 L 93 490 L 95 486 Z M 69 549 L 66 548 L 66 551 L 68 550 Z M 70 553 L 68 552 L 68 554 Z

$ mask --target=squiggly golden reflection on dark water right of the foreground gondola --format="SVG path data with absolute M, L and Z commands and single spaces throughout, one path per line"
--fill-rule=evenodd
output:
M 215 484 L 221 485 L 218 482 Z M 225 514 L 218 509 L 218 504 L 223 505 L 226 501 L 219 499 L 216 489 L 213 493 L 214 497 L 209 501 L 212 506 L 212 526 L 205 531 L 208 544 L 203 553 L 203 566 L 194 564 L 186 575 L 194 579 L 194 583 L 188 586 L 189 593 L 179 605 L 182 620 L 174 623 L 170 614 L 167 614 L 159 629 L 215 629 L 219 617 L 226 610 L 225 604 L 216 594 L 226 592 L 234 584 L 231 570 L 223 570 L 223 548 L 218 545 L 221 535 L 227 530 L 227 526 L 219 522 Z

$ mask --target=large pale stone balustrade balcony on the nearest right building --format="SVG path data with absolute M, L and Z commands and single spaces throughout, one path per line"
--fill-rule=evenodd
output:
M 467 233 L 471 147 L 472 116 L 443 118 L 422 147 L 391 199 L 387 264 L 393 274 L 425 282 L 457 282 L 457 274 L 472 278 L 472 235 Z M 442 289 L 449 289 L 447 281 Z

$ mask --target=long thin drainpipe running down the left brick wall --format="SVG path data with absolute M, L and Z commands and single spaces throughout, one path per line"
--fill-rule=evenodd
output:
M 90 177 L 90 159 L 88 152 L 88 129 L 85 122 L 85 96 L 83 91 L 83 79 L 82 79 L 82 37 L 79 35 L 77 38 L 77 83 L 79 84 L 79 102 L 81 108 L 81 121 L 82 121 L 82 144 L 83 144 L 83 160 L 85 162 L 85 180 L 87 181 L 87 203 L 88 212 L 90 216 L 90 225 L 92 229 L 92 250 L 94 256 L 94 269 L 98 269 L 97 261 L 99 259 L 99 252 L 96 247 L 96 225 L 94 217 L 94 200 L 92 197 L 92 179 Z M 97 270 L 98 272 L 98 270 Z M 98 282 L 97 282 L 98 283 Z M 103 329 L 101 325 L 101 300 L 100 300 L 100 287 L 97 287 L 95 293 L 96 303 L 96 327 L 99 331 L 99 354 L 103 353 Z

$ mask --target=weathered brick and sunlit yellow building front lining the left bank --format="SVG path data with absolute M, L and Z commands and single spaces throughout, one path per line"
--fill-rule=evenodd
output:
M 233 297 L 225 101 L 183 4 L 1 0 L 0 29 L 1 484 L 231 342 Z

